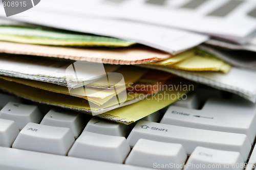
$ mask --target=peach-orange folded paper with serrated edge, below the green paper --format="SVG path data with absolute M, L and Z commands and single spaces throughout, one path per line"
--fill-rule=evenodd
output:
M 0 41 L 0 53 L 101 62 L 97 56 L 93 57 L 100 53 L 103 63 L 126 65 L 157 62 L 172 57 L 168 53 L 143 45 L 123 48 L 71 48 L 5 41 Z

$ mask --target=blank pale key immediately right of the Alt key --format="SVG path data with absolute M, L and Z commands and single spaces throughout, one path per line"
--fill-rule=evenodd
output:
M 68 156 L 123 163 L 130 151 L 124 137 L 83 132 Z

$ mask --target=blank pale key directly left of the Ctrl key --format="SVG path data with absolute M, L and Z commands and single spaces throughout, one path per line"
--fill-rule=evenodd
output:
M 125 164 L 157 168 L 158 165 L 184 164 L 187 154 L 181 144 L 165 143 L 153 140 L 139 139 L 133 150 L 125 160 Z M 160 166 L 161 167 L 161 166 Z

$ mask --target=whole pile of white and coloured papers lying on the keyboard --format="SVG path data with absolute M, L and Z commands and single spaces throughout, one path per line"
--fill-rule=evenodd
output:
M 197 83 L 256 102 L 253 1 L 57 4 L 0 20 L 1 89 L 123 124 Z

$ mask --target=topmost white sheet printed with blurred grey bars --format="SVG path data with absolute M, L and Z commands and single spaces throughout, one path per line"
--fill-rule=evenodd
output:
M 256 16 L 252 12 L 256 8 L 256 1 L 73 0 L 70 3 L 62 0 L 59 5 L 57 0 L 45 0 L 40 3 L 38 8 L 44 10 L 150 22 L 240 43 L 245 43 L 256 28 Z

